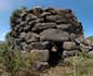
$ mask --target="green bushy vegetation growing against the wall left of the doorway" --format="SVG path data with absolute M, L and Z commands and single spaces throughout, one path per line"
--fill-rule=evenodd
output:
M 24 75 L 25 73 L 31 75 L 31 65 L 38 62 L 38 54 L 13 51 L 8 45 L 1 47 L 3 48 L 1 48 L 2 50 L 0 51 L 0 69 L 11 74 L 11 76 L 18 76 L 18 72 L 21 71 L 24 71 Z

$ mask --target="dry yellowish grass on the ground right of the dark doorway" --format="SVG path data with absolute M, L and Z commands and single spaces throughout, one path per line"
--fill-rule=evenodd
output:
M 93 76 L 93 58 L 70 56 L 64 60 L 64 64 L 48 69 L 41 76 Z

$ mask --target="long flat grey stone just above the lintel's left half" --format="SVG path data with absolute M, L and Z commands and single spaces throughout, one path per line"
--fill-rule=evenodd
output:
M 39 31 L 46 28 L 56 27 L 56 23 L 37 23 L 31 30 Z

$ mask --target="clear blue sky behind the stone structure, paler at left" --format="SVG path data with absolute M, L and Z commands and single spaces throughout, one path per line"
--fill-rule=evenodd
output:
M 93 36 L 93 0 L 0 0 L 0 40 L 4 40 L 10 28 L 10 16 L 15 9 L 34 7 L 71 9 L 82 22 L 84 36 Z

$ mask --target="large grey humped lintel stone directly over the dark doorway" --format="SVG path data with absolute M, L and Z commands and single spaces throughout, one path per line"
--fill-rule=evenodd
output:
M 69 34 L 59 29 L 45 29 L 40 34 L 40 40 L 64 41 L 69 40 Z

